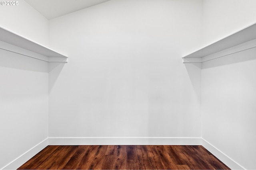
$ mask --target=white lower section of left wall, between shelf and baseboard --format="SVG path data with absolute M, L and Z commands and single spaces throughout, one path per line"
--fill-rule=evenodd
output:
M 0 49 L 0 78 L 2 169 L 48 137 L 48 63 Z

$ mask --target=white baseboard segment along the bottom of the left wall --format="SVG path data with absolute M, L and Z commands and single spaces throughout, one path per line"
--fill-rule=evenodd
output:
M 42 149 L 48 146 L 48 138 L 44 141 L 38 143 L 36 146 L 32 147 L 30 150 L 10 162 L 8 165 L 6 165 L 4 170 L 16 170 L 20 166 L 22 166 L 25 162 L 27 162 L 30 158 L 35 156 L 38 152 L 40 152 Z

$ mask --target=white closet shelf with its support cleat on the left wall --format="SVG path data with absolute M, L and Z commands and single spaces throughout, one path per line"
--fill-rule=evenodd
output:
M 0 49 L 47 62 L 68 63 L 68 57 L 0 26 Z

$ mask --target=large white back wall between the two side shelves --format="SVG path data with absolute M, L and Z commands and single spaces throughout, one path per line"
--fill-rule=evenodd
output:
M 49 21 L 49 137 L 200 137 L 200 0 L 111 0 Z

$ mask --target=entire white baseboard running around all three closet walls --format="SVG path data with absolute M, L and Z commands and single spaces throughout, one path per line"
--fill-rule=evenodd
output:
M 234 170 L 245 169 L 237 162 L 222 153 L 216 147 L 208 143 L 202 138 L 48 138 L 22 154 L 10 164 L 5 166 L 4 170 L 17 169 L 42 149 L 48 145 L 202 145 L 205 149 L 211 152 L 229 168 Z

